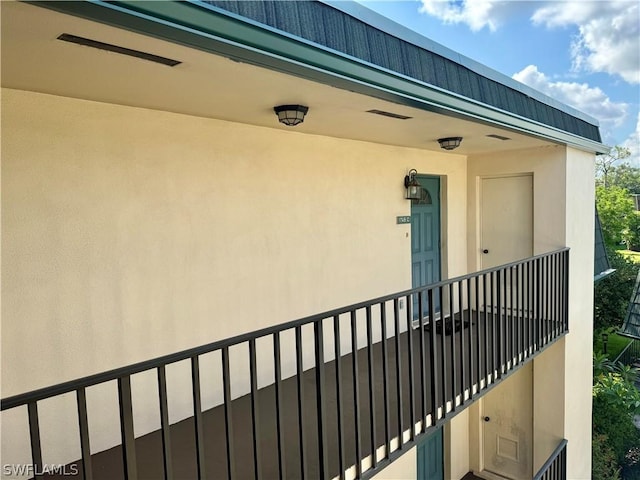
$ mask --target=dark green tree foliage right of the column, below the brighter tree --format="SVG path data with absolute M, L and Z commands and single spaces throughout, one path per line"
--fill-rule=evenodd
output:
M 593 317 L 597 332 L 622 326 L 638 275 L 638 265 L 620 253 L 608 248 L 607 256 L 616 272 L 595 284 Z

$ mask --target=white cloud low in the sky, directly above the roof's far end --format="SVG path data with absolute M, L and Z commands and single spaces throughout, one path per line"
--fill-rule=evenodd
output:
M 627 115 L 629 105 L 613 102 L 600 88 L 586 83 L 554 82 L 535 65 L 525 67 L 513 78 L 598 119 L 605 142 L 611 129 L 622 125 Z

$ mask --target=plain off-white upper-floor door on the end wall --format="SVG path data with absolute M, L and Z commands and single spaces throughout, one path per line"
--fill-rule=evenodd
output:
M 533 175 L 480 181 L 481 268 L 533 254 Z

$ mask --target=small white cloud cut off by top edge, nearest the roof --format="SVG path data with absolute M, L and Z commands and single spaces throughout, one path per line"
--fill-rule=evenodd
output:
M 507 19 L 514 3 L 504 0 L 422 0 L 420 12 L 444 23 L 466 23 L 474 32 L 485 27 L 493 32 Z

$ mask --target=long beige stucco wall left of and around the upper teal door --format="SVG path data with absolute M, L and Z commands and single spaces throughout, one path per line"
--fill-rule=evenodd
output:
M 466 271 L 464 157 L 275 127 L 3 89 L 2 396 L 409 288 L 410 168 L 445 177 L 443 264 Z M 168 372 L 174 420 L 188 372 Z M 153 373 L 133 387 L 140 434 L 158 425 L 135 401 Z M 116 388 L 88 395 L 98 451 L 118 438 Z M 55 440 L 67 418 L 72 395 L 41 407 L 50 462 L 78 451 Z M 3 414 L 3 433 L 25 419 Z M 14 438 L 3 458 L 25 453 Z

